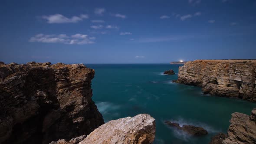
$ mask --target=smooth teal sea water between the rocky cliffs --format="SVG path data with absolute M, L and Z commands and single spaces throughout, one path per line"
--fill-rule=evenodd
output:
M 226 133 L 233 112 L 247 115 L 256 104 L 234 98 L 203 95 L 201 88 L 172 83 L 182 65 L 85 64 L 95 69 L 93 101 L 105 122 L 141 113 L 156 119 L 154 144 L 208 144 L 218 132 Z M 192 137 L 170 128 L 164 121 L 200 126 L 208 135 Z

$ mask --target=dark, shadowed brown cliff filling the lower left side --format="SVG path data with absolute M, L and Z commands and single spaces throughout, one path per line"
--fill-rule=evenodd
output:
M 49 144 L 104 124 L 83 64 L 0 63 L 0 143 Z

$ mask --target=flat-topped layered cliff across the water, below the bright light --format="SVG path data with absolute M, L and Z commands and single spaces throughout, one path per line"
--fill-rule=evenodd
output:
M 256 60 L 195 60 L 179 67 L 177 83 L 205 94 L 256 101 Z

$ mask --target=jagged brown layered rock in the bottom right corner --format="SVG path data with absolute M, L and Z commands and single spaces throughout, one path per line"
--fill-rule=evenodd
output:
M 256 108 L 251 111 L 251 115 L 239 112 L 232 114 L 227 138 L 223 144 L 256 144 Z

